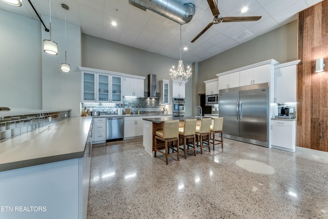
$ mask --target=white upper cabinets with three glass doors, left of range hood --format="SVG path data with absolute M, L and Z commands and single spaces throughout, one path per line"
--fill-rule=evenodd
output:
M 81 102 L 83 103 L 120 104 L 123 96 L 144 97 L 146 78 L 144 76 L 78 68 L 81 70 Z

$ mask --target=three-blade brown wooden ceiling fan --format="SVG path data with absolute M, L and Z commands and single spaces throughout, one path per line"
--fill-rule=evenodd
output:
M 215 0 L 207 0 L 209 3 L 210 9 L 214 16 L 213 21 L 208 24 L 200 33 L 193 38 L 191 43 L 194 43 L 196 39 L 199 38 L 205 31 L 207 31 L 212 25 L 219 24 L 221 22 L 253 22 L 258 21 L 262 16 L 250 16 L 250 17 L 221 17 L 219 9 L 217 8 L 217 4 Z

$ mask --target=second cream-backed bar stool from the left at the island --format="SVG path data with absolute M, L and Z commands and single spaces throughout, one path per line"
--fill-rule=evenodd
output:
M 179 128 L 179 137 L 183 139 L 183 150 L 185 151 L 186 159 L 187 151 L 194 151 L 196 156 L 196 122 L 196 118 L 187 119 L 183 124 L 183 128 Z M 194 139 L 194 146 L 191 146 L 190 143 L 187 143 L 187 140 L 190 138 Z M 188 145 L 188 149 L 186 149 L 186 145 Z M 189 149 L 189 147 L 191 147 L 191 149 Z

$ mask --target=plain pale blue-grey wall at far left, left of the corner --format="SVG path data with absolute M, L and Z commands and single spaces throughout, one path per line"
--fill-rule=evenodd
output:
M 42 108 L 40 22 L 1 10 L 0 106 Z

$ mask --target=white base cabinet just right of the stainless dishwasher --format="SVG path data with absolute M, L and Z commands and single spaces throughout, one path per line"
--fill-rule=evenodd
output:
M 144 125 L 142 118 L 146 116 L 124 117 L 124 139 L 142 136 L 144 133 Z

